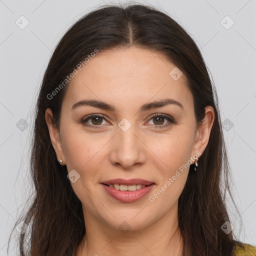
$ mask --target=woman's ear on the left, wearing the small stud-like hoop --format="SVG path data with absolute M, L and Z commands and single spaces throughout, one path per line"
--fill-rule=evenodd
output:
M 61 165 L 65 165 L 65 157 L 63 154 L 63 149 L 62 149 L 62 143 L 60 140 L 60 134 L 59 134 L 59 130 L 56 127 L 55 124 L 52 123 L 52 111 L 50 108 L 47 108 L 45 110 L 45 121 L 47 123 L 48 126 L 48 130 L 49 130 L 49 135 L 50 135 L 50 140 L 51 140 L 51 144 L 55 150 L 56 153 L 56 157 L 57 157 L 57 161 L 59 162 L 60 158 L 62 160 Z

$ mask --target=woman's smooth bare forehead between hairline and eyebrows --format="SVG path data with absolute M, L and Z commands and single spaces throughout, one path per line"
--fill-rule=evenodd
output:
M 174 69 L 173 69 L 174 68 Z M 71 79 L 63 104 L 94 98 L 120 107 L 162 98 L 173 98 L 185 107 L 192 104 L 187 79 L 177 73 L 164 55 L 142 48 L 99 51 Z M 178 76 L 174 76 L 173 71 Z M 170 73 L 171 72 L 171 73 Z M 151 99 L 151 100 L 150 100 Z

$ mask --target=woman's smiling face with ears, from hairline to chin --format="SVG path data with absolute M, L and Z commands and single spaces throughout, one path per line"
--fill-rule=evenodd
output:
M 72 171 L 85 225 L 94 219 L 137 230 L 177 214 L 188 166 L 205 149 L 214 117 L 207 107 L 205 124 L 196 127 L 192 94 L 179 72 L 159 53 L 130 47 L 99 51 L 72 78 L 60 132 L 49 130 L 57 159 Z M 87 100 L 102 107 L 77 104 Z

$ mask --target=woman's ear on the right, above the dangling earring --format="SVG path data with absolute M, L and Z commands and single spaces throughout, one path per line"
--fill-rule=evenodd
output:
M 210 136 L 210 131 L 213 125 L 213 121 L 214 121 L 214 109 L 212 106 L 206 106 L 205 117 L 202 123 L 196 129 L 195 142 L 192 150 L 193 155 L 198 155 L 196 154 L 197 151 L 199 151 L 201 155 L 204 149 L 206 148 L 209 141 L 209 136 Z

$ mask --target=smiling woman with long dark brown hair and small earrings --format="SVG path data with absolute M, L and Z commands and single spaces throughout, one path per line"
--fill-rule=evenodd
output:
M 215 88 L 168 15 L 134 4 L 83 16 L 54 50 L 36 110 L 21 255 L 256 253 L 234 238 L 221 191 Z

